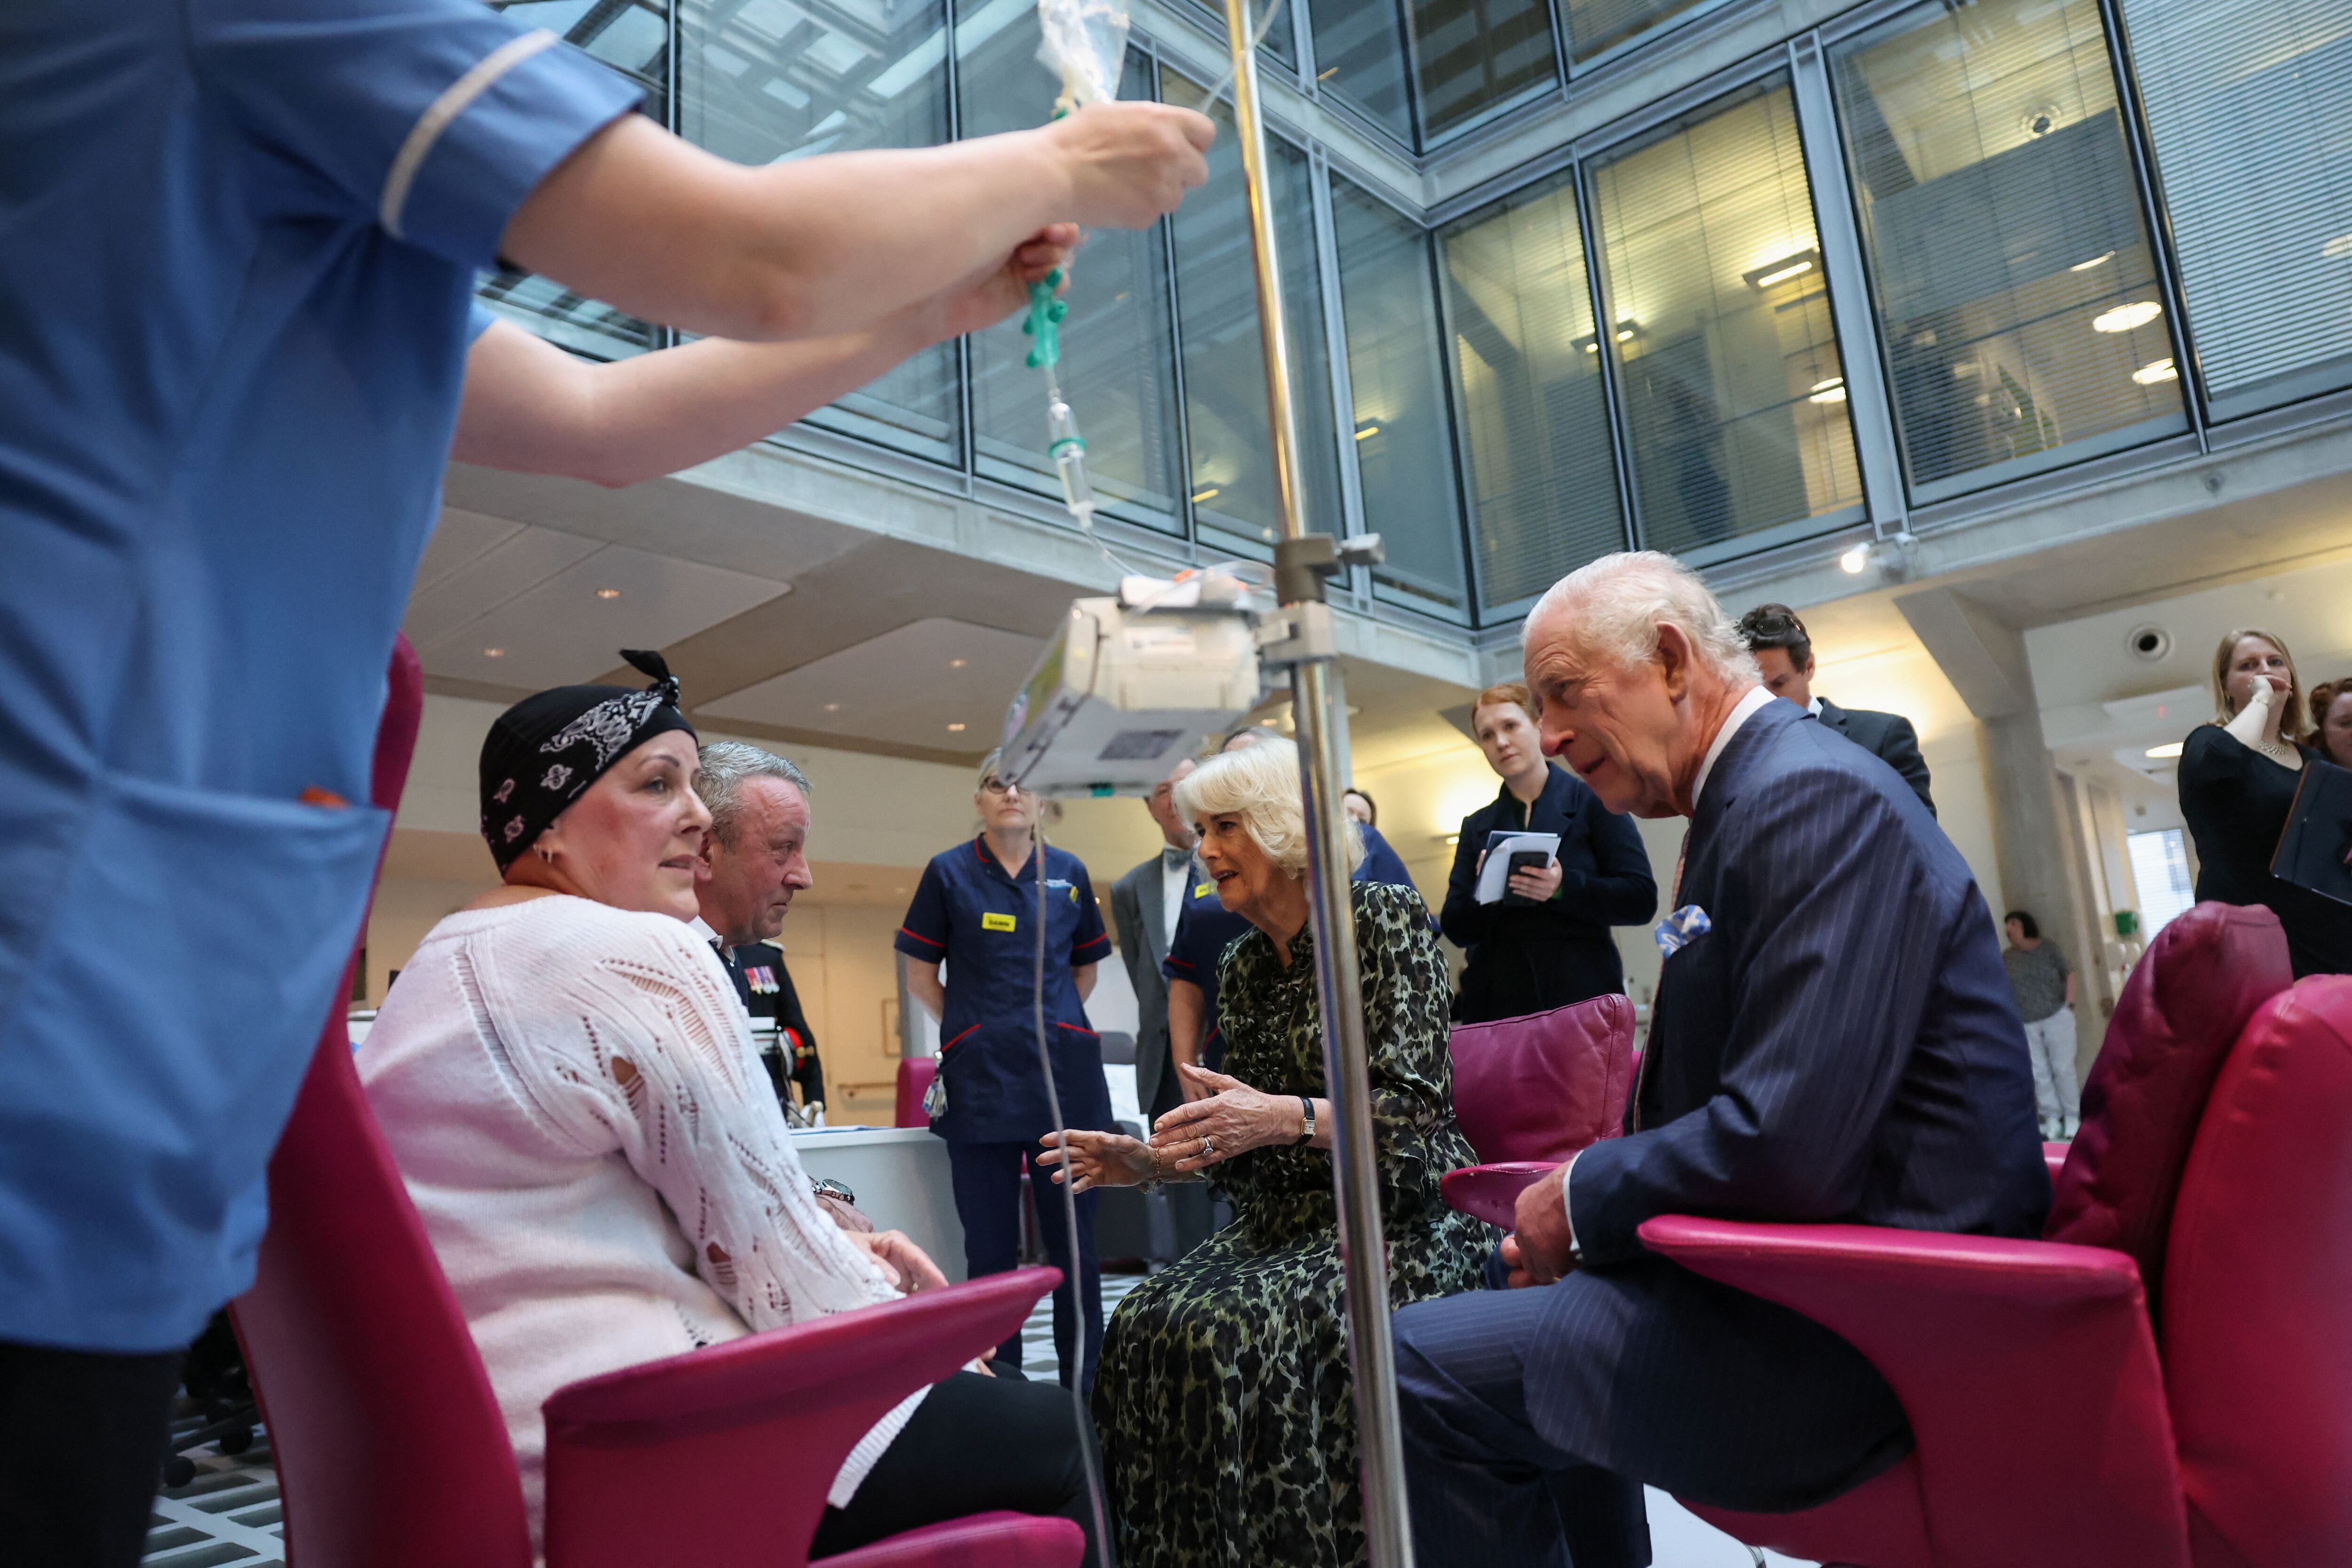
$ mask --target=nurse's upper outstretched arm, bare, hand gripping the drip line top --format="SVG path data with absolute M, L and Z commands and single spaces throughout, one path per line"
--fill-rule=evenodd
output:
M 532 190 L 499 249 L 684 331 L 854 331 L 1051 223 L 1152 223 L 1209 179 L 1214 136 L 1171 103 L 1094 103 L 1033 132 L 743 167 L 621 115 Z

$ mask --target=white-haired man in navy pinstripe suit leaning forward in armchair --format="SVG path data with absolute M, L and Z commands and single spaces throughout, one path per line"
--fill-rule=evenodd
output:
M 1910 1450 L 1844 1340 L 1642 1251 L 1642 1220 L 2032 1237 L 2025 1032 L 1969 865 L 1884 762 L 1757 679 L 1665 555 L 1526 621 L 1543 748 L 1611 811 L 1691 818 L 1628 1135 L 1519 1197 L 1515 1291 L 1397 1314 L 1423 1568 L 1639 1568 L 1639 1483 L 1799 1509 Z

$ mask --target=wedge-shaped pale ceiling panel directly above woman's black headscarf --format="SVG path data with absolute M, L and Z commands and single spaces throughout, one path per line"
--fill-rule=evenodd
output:
M 536 691 L 590 682 L 623 646 L 666 649 L 783 592 L 781 578 L 442 508 L 402 630 L 426 675 Z

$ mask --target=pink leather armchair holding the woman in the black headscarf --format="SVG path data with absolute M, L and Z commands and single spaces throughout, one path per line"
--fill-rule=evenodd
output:
M 376 743 L 395 806 L 421 712 L 400 644 Z M 346 992 L 348 994 L 348 992 Z M 1061 1279 L 1021 1269 L 560 1389 L 550 1568 L 802 1568 L 826 1488 L 894 1403 L 1014 1333 Z M 515 1453 L 334 1009 L 270 1161 L 270 1229 L 233 1305 L 285 1495 L 289 1563 L 532 1568 Z M 1075 1568 L 1065 1519 L 978 1514 L 837 1568 Z

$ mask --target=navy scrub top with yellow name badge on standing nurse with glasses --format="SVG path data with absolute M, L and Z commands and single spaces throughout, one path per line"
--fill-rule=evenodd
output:
M 1103 1041 L 1087 1023 L 1073 969 L 1110 954 L 1103 910 L 1084 863 L 1044 849 L 1044 1023 L 1054 1093 L 1068 1126 L 1110 1128 Z M 988 839 L 931 856 L 898 926 L 898 952 L 948 961 L 938 1020 L 938 1077 L 948 1114 L 931 1131 L 950 1143 L 1035 1143 L 1054 1131 L 1037 1072 L 1037 853 L 1007 877 Z

